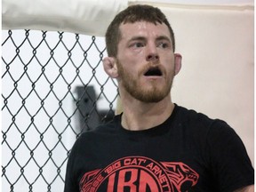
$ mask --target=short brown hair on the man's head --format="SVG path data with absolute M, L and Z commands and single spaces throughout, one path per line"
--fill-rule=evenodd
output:
M 175 50 L 174 33 L 164 13 L 161 12 L 160 9 L 150 5 L 136 4 L 129 6 L 122 12 L 119 12 L 108 26 L 105 37 L 109 57 L 116 57 L 117 55 L 117 44 L 121 37 L 119 30 L 121 23 L 134 23 L 141 20 L 152 22 L 154 24 L 156 24 L 156 22 L 160 24 L 164 22 L 164 24 L 169 28 L 172 39 L 172 49 L 173 51 Z

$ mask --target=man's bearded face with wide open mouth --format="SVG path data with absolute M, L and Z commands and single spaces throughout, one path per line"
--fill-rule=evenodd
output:
M 165 24 L 140 21 L 120 26 L 119 87 L 137 100 L 158 102 L 170 94 L 175 76 L 170 32 Z

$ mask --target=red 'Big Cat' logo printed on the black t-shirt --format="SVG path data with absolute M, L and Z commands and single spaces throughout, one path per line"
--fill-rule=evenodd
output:
M 158 163 L 144 156 L 128 156 L 105 169 L 86 172 L 80 180 L 80 191 L 181 192 L 195 186 L 198 178 L 199 175 L 183 163 Z

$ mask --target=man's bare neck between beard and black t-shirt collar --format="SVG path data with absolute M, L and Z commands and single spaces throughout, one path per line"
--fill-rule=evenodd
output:
M 150 129 L 164 123 L 171 116 L 174 104 L 170 97 L 157 103 L 144 103 L 139 100 L 122 100 L 122 126 L 131 131 Z

